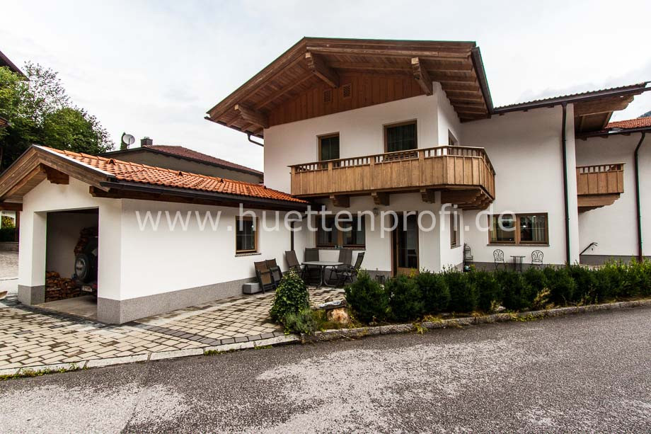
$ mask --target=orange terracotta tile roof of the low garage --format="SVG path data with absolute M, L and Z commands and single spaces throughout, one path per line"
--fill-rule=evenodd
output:
M 95 169 L 109 173 L 119 181 L 144 183 L 149 185 L 163 185 L 166 187 L 185 188 L 188 190 L 200 190 L 210 193 L 222 193 L 230 195 L 248 196 L 251 198 L 263 198 L 271 200 L 282 200 L 287 202 L 307 203 L 305 200 L 294 198 L 292 195 L 282 191 L 266 188 L 264 185 L 246 183 L 243 181 L 232 181 L 216 176 L 198 175 L 197 173 L 173 171 L 161 167 L 146 166 L 145 164 L 131 163 L 117 159 L 108 159 L 103 156 L 79 154 L 78 152 L 62 151 L 42 147 L 49 151 L 57 152 L 83 164 L 92 166 Z

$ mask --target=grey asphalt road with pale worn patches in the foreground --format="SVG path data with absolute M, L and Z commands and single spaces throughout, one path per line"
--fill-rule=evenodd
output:
M 651 430 L 651 308 L 0 383 L 0 431 Z

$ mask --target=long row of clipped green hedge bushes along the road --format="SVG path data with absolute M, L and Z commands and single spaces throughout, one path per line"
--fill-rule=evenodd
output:
M 368 273 L 345 289 L 355 317 L 364 323 L 415 321 L 441 312 L 494 312 L 595 304 L 651 296 L 651 261 L 611 262 L 589 269 L 568 267 L 509 270 L 445 270 L 389 278 L 379 285 Z

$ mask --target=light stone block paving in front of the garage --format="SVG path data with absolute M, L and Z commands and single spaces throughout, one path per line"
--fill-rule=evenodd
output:
M 313 304 L 342 290 L 310 290 Z M 122 325 L 99 324 L 0 302 L 0 370 L 186 350 L 282 336 L 269 317 L 273 293 L 232 297 Z

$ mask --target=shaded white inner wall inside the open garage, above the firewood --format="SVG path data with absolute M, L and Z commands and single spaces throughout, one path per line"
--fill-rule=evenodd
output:
M 98 215 L 82 212 L 49 212 L 45 270 L 64 278 L 74 274 L 74 248 L 81 229 L 98 226 Z

